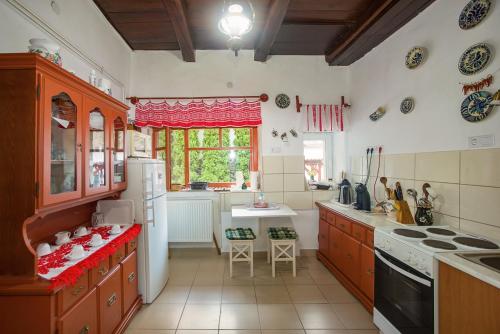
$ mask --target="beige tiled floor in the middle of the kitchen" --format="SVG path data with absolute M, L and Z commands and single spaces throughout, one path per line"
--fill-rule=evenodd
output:
M 127 334 L 377 334 L 368 312 L 315 257 L 280 264 L 229 263 L 212 249 L 174 249 L 167 286 Z

